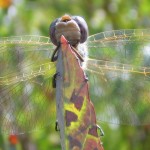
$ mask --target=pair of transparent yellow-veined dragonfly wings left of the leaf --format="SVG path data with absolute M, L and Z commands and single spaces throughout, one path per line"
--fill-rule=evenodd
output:
M 55 120 L 50 61 L 53 44 L 48 37 L 19 36 L 0 39 L 0 127 L 20 134 Z

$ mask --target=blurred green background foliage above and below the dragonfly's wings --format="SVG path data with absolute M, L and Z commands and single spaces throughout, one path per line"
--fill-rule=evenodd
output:
M 149 0 L 0 0 L 0 37 L 12 35 L 49 36 L 49 25 L 63 14 L 80 15 L 89 34 L 114 30 L 149 28 Z M 53 106 L 54 107 L 54 106 Z M 54 126 L 21 135 L 17 150 L 59 150 Z M 149 126 L 101 124 L 105 150 L 149 150 Z M 9 150 L 8 136 L 0 135 L 0 150 Z M 23 142 L 22 142 L 23 141 Z

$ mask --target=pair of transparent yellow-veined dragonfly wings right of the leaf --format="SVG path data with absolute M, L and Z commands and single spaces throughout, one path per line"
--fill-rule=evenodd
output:
M 86 72 L 99 121 L 150 123 L 150 30 L 89 37 Z

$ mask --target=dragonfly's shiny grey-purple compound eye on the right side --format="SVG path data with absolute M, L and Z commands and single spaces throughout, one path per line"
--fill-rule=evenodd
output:
M 80 16 L 72 16 L 72 19 L 75 20 L 81 31 L 80 43 L 84 43 L 88 37 L 88 26 L 86 21 Z

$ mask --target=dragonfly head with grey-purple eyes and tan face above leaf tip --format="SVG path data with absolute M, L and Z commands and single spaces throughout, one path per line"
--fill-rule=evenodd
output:
M 65 36 L 69 43 L 77 47 L 79 43 L 84 43 L 88 36 L 88 26 L 80 16 L 64 15 L 55 19 L 50 25 L 50 38 L 54 45 L 58 46 L 60 37 Z

